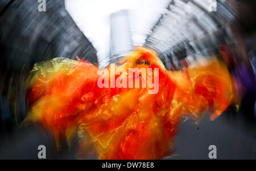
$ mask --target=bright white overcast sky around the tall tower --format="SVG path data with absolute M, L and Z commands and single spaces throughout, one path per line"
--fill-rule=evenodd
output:
M 97 50 L 98 61 L 109 56 L 110 14 L 129 10 L 134 45 L 143 45 L 147 33 L 170 0 L 65 0 L 65 6 L 73 20 Z M 107 63 L 102 61 L 100 66 Z

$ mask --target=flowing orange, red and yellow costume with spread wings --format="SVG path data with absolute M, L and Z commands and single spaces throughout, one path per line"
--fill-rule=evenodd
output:
M 148 93 L 148 85 L 100 88 L 102 74 L 97 73 L 103 69 L 82 59 L 54 58 L 36 63 L 31 71 L 26 121 L 40 122 L 52 132 L 58 149 L 61 139 L 70 146 L 77 136 L 79 156 L 93 145 L 99 159 L 161 159 L 172 152 L 182 117 L 199 122 L 210 113 L 214 120 L 232 101 L 229 72 L 216 58 L 168 71 L 154 51 L 137 47 L 119 63 L 115 70 L 127 73 L 129 68 L 151 68 L 147 75 L 153 76 L 158 69 L 158 92 Z M 127 85 L 133 76 L 127 77 Z M 147 82 L 142 75 L 139 80 Z

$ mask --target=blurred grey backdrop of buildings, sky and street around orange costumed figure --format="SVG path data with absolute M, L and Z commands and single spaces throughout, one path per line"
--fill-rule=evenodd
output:
M 0 1 L 0 159 L 76 159 L 76 146 L 56 151 L 39 125 L 20 127 L 28 112 L 25 82 L 36 62 L 76 55 L 100 67 L 144 46 L 168 70 L 215 55 L 234 79 L 238 101 L 211 122 L 186 121 L 167 159 L 256 159 L 256 1 L 254 0 Z M 237 109 L 239 108 L 238 112 Z M 92 154 L 88 159 L 96 159 Z

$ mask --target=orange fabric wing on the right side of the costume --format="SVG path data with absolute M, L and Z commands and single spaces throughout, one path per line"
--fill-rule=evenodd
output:
M 204 65 L 199 62 L 183 71 L 168 73 L 177 86 L 173 102 L 185 117 L 199 122 L 210 114 L 213 121 L 232 103 L 232 78 L 216 58 L 204 61 Z

